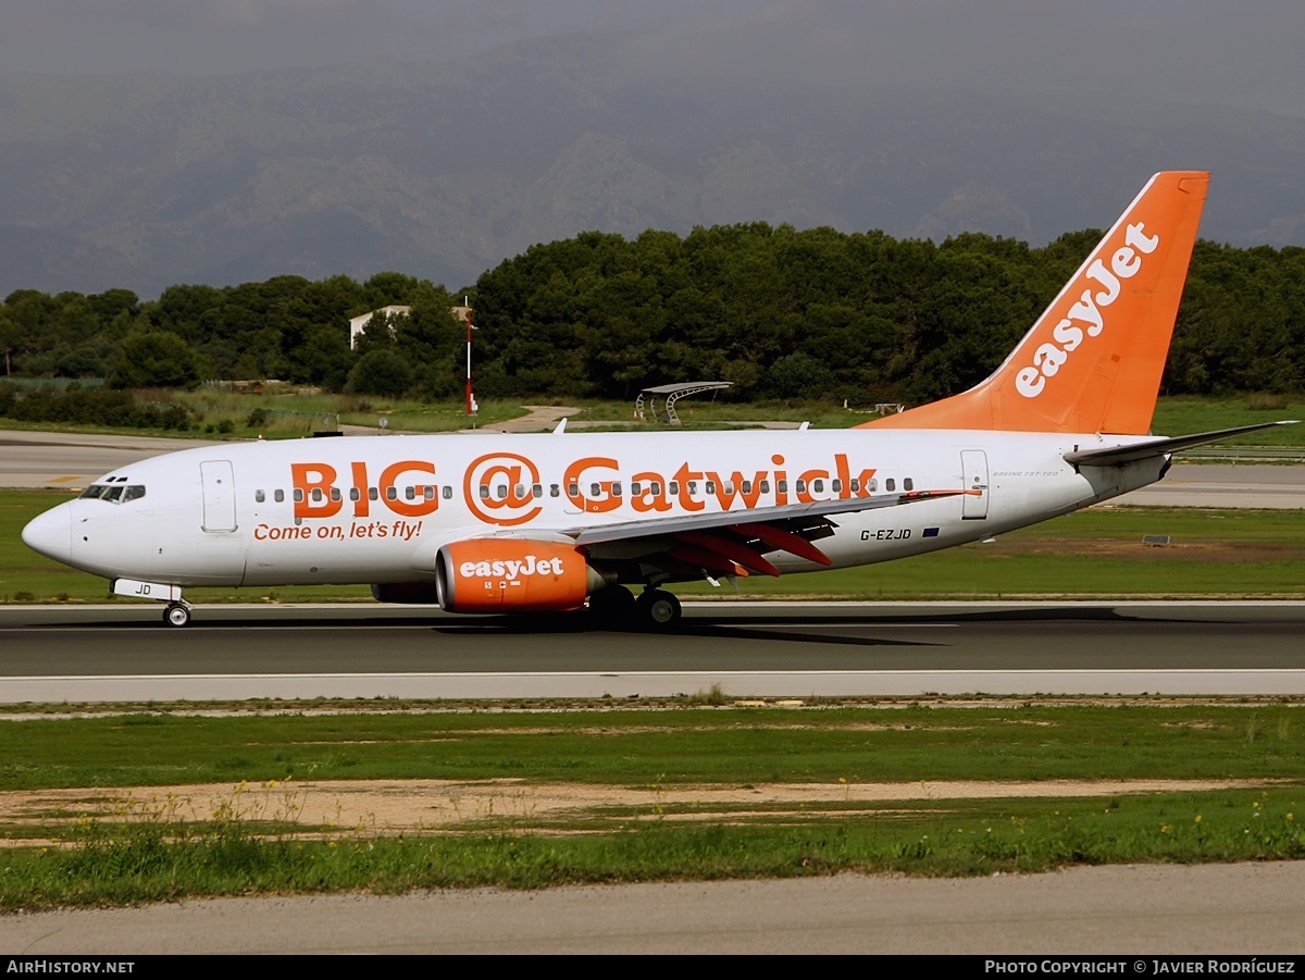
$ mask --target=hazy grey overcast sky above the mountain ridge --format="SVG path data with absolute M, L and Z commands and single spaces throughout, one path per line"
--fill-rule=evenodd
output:
M 625 31 L 633 64 L 688 77 L 1138 93 L 1305 116 L 1301 0 L 3 0 L 0 69 L 224 74 L 576 31 Z

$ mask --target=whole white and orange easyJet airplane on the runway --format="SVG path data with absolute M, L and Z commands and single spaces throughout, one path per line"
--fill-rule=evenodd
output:
M 359 583 L 446 612 L 587 604 L 650 630 L 680 620 L 676 582 L 988 539 L 1155 483 L 1177 450 L 1289 424 L 1150 435 L 1208 179 L 1152 176 L 987 380 L 872 423 L 232 442 L 117 468 L 22 539 L 167 603 L 171 626 L 191 621 L 187 587 Z

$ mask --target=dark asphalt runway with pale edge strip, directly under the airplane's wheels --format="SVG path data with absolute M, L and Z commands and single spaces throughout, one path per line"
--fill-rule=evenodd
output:
M 382 605 L 0 608 L 0 702 L 1305 696 L 1305 603 L 690 603 L 672 634 Z

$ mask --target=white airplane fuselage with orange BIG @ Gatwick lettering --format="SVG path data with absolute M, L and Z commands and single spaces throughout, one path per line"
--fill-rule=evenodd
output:
M 1109 445 L 1147 437 L 1111 437 Z M 1165 459 L 1083 467 L 1096 435 L 765 431 L 446 435 L 232 442 L 133 463 L 37 518 L 38 551 L 106 578 L 175 586 L 431 581 L 440 545 L 902 491 L 970 493 L 840 513 L 818 542 L 834 568 L 919 555 L 1154 483 Z M 977 489 L 980 492 L 975 493 Z M 112 495 L 110 495 L 112 496 Z M 67 538 L 65 538 L 67 535 Z M 67 542 L 67 547 L 64 547 Z M 637 557 L 639 542 L 595 555 Z M 784 574 L 822 566 L 769 555 Z

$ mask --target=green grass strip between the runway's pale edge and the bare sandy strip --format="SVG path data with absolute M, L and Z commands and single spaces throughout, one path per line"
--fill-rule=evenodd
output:
M 608 786 L 911 780 L 1305 782 L 1295 703 L 946 702 L 808 709 L 696 698 L 621 710 L 399 703 L 345 714 L 198 716 L 185 706 L 0 723 L 0 789 L 286 779 Z M 697 698 L 701 699 L 701 698 Z M 343 702 L 341 705 L 345 706 Z M 271 705 L 253 706 L 269 709 Z M 312 711 L 312 703 L 298 706 Z M 457 710 L 457 709 L 462 710 Z M 1305 804 L 1305 799 L 1301 800 Z M 1305 821 L 1305 812 L 1301 814 Z

